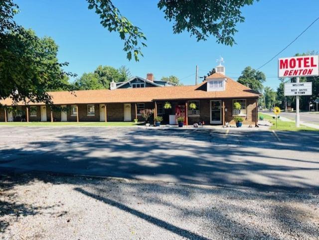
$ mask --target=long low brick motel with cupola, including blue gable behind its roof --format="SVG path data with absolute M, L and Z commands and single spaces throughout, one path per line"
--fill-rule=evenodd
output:
M 55 107 L 43 103 L 12 105 L 9 98 L 0 109 L 0 121 L 92 122 L 92 121 L 143 121 L 142 109 L 154 109 L 154 116 L 162 116 L 162 124 L 175 125 L 176 118 L 184 116 L 184 124 L 204 121 L 205 125 L 225 125 L 233 117 L 241 116 L 243 124 L 257 125 L 259 93 L 225 75 L 225 67 L 218 65 L 216 73 L 192 86 L 175 86 L 174 83 L 133 77 L 126 82 L 111 83 L 111 89 L 49 92 Z M 171 108 L 164 109 L 169 102 Z M 234 103 L 240 110 L 233 109 Z M 189 108 L 195 103 L 196 108 Z M 152 121 L 152 120 L 151 120 Z M 150 122 L 151 122 L 150 121 Z

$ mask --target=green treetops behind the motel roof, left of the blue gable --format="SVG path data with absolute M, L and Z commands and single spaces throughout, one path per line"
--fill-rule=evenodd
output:
M 126 66 L 116 69 L 111 66 L 98 66 L 94 72 L 84 73 L 74 82 L 74 89 L 109 89 L 110 83 L 123 82 L 131 77 L 131 72 Z

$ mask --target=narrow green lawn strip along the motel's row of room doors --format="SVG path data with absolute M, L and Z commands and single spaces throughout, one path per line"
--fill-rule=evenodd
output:
M 136 126 L 134 122 L 0 122 L 0 126 L 93 126 L 93 127 L 127 127 Z

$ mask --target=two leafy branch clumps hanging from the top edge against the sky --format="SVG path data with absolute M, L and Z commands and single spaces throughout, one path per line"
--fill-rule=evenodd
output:
M 118 32 L 124 41 L 123 50 L 129 60 L 139 61 L 141 51 L 146 46 L 146 36 L 141 28 L 123 16 L 112 0 L 87 0 L 89 9 L 95 9 L 100 23 L 110 32 Z M 158 7 L 164 18 L 173 22 L 173 33 L 187 31 L 197 41 L 206 40 L 210 35 L 218 43 L 232 46 L 237 32 L 236 24 L 244 22 L 241 8 L 258 0 L 159 0 Z

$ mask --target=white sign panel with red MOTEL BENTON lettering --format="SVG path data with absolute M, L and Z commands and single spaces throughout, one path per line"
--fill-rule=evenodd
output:
M 319 55 L 295 56 L 278 59 L 278 77 L 319 75 Z

